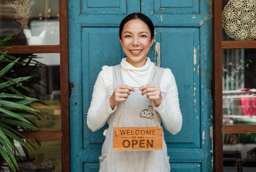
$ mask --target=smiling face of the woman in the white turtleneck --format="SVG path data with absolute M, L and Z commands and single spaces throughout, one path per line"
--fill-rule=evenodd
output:
M 146 63 L 146 55 L 152 46 L 155 37 L 151 39 L 148 25 L 140 19 L 132 19 L 125 23 L 119 41 L 127 57 L 127 62 L 135 67 Z

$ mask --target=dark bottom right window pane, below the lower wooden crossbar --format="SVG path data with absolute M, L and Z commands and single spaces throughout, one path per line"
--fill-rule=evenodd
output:
M 223 171 L 256 171 L 256 133 L 223 134 Z

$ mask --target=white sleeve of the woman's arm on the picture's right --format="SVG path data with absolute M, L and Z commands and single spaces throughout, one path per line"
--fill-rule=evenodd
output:
M 166 85 L 167 84 L 167 85 Z M 175 135 L 181 130 L 182 115 L 178 97 L 178 89 L 175 78 L 170 69 L 166 69 L 161 79 L 160 86 L 164 86 L 162 91 L 163 101 L 155 108 L 160 114 L 162 122 L 166 130 Z M 165 87 L 166 85 L 166 87 Z M 163 96 L 165 92 L 165 96 Z

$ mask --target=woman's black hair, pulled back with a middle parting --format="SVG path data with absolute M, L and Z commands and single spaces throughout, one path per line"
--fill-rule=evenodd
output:
M 119 37 L 120 37 L 120 39 L 122 39 L 121 34 L 122 34 L 122 31 L 123 31 L 123 26 L 125 26 L 125 23 L 127 23 L 128 21 L 130 21 L 132 19 L 140 19 L 144 23 L 146 23 L 146 25 L 148 25 L 148 28 L 150 29 L 151 39 L 154 37 L 154 25 L 153 25 L 151 19 L 148 18 L 148 16 L 146 16 L 145 14 L 142 14 L 142 13 L 131 13 L 128 16 L 126 16 L 120 23 L 120 28 L 119 28 Z

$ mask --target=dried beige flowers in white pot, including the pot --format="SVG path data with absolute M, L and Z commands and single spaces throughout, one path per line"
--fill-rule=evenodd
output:
M 6 1 L 6 3 L 16 11 L 14 18 L 22 25 L 28 45 L 43 45 L 46 31 L 44 30 L 39 36 L 32 36 L 31 30 L 28 29 L 32 12 L 30 8 L 35 4 L 35 0 L 15 0 L 13 2 Z

